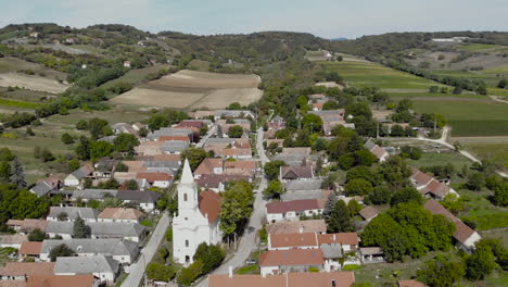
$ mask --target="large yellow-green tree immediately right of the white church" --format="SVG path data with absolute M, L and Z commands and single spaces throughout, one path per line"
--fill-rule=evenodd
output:
M 223 192 L 220 229 L 230 236 L 246 223 L 253 211 L 254 192 L 246 182 L 238 182 Z

